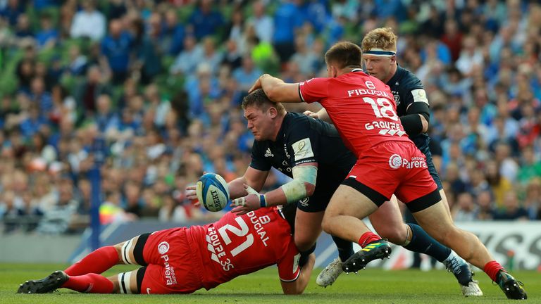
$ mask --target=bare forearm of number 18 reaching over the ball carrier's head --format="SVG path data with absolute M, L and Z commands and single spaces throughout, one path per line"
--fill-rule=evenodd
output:
M 280 78 L 272 77 L 268 74 L 263 74 L 259 77 L 249 92 L 256 89 L 263 89 L 268 99 L 280 103 L 300 103 L 302 102 L 299 95 L 299 84 L 288 84 Z

